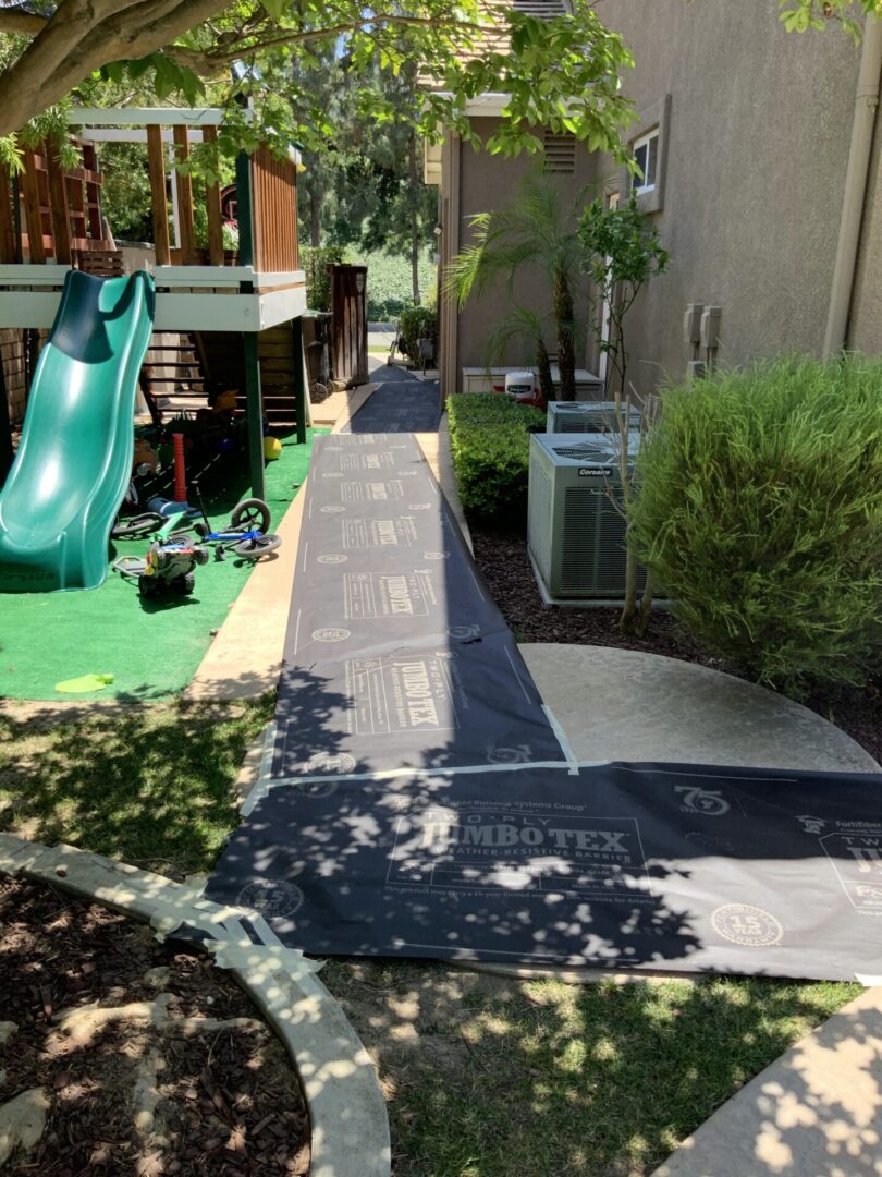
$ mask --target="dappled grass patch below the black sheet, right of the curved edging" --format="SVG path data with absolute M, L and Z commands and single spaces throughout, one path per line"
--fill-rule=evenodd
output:
M 322 977 L 377 1063 L 396 1177 L 650 1173 L 858 991 L 724 979 L 570 988 L 406 962 L 328 962 Z M 878 1100 L 877 1076 L 874 1090 Z M 824 1115 L 838 1111 L 834 1100 Z M 746 1172 L 727 1164 L 707 1172 Z

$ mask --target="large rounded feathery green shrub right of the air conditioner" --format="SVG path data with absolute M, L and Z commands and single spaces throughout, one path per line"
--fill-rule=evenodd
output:
M 707 651 L 790 693 L 866 681 L 882 652 L 882 363 L 782 359 L 668 391 L 633 526 Z

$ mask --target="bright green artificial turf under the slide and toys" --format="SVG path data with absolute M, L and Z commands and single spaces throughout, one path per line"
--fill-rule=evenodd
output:
M 327 431 L 316 431 L 327 432 Z M 273 526 L 306 478 L 313 431 L 307 444 L 292 434 L 282 455 L 266 467 L 266 497 Z M 208 503 L 214 524 L 247 497 L 240 476 Z M 122 554 L 141 556 L 149 540 L 121 540 L 111 563 Z M 227 611 L 248 579 L 252 565 L 233 557 L 195 570 L 192 596 L 163 594 L 145 600 L 134 580 L 108 573 L 91 592 L 7 593 L 0 597 L 0 697 L 64 699 L 55 684 L 80 674 L 111 672 L 112 686 L 86 698 L 160 699 L 182 690 L 193 678 Z M 247 665 L 247 651 L 242 661 Z M 83 696 L 79 696 L 82 698 Z

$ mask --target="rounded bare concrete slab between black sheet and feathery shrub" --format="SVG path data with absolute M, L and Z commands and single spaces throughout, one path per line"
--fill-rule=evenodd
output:
M 607 646 L 520 651 L 579 760 L 880 771 L 834 724 L 731 674 Z

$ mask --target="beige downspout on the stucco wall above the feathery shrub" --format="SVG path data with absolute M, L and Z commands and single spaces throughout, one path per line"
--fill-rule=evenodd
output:
M 836 262 L 833 270 L 830 308 L 824 332 L 824 355 L 841 352 L 846 346 L 861 240 L 861 220 L 873 152 L 873 135 L 876 111 L 878 109 L 880 74 L 882 74 L 882 18 L 868 16 L 863 32 L 861 68 L 857 75 L 851 146 L 846 169 L 842 219 L 836 246 Z

